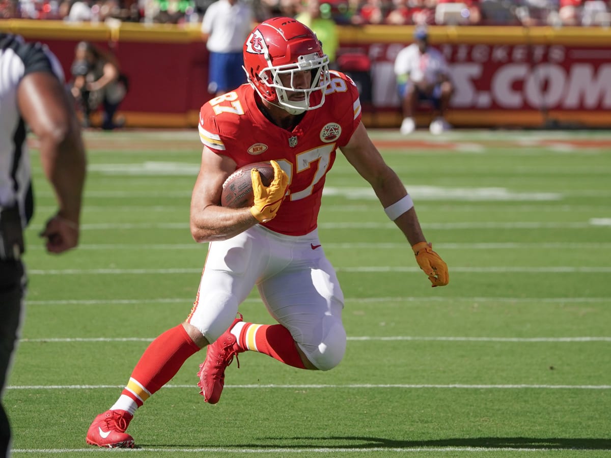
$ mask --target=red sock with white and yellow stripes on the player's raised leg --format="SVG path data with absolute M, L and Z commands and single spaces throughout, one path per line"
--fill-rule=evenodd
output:
M 238 345 L 244 350 L 264 353 L 289 366 L 305 369 L 293 336 L 281 324 L 244 323 Z

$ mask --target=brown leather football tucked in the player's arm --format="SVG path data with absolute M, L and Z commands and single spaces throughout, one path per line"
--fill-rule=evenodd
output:
M 236 169 L 223 183 L 221 205 L 229 208 L 244 208 L 252 206 L 251 169 L 257 169 L 261 175 L 263 186 L 269 186 L 274 179 L 274 167 L 269 162 L 254 162 Z

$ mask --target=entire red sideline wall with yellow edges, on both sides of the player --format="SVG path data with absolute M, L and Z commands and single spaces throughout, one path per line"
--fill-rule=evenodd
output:
M 46 43 L 67 75 L 80 40 L 112 49 L 130 77 L 120 107 L 130 126 L 196 126 L 199 107 L 211 97 L 197 26 L 3 20 L 0 31 Z M 412 33 L 411 26 L 340 27 L 339 52 L 364 53 L 372 62 L 374 107 L 364 113 L 366 125 L 399 125 L 392 65 Z M 437 26 L 430 38 L 452 67 L 456 93 L 448 118 L 456 126 L 611 126 L 607 29 Z

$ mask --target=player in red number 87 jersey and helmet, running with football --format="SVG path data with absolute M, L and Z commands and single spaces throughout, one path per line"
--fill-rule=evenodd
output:
M 328 62 L 308 27 L 285 17 L 264 21 L 244 43 L 249 84 L 202 106 L 191 233 L 210 245 L 194 306 L 185 322 L 148 346 L 117 402 L 93 421 L 88 443 L 133 446 L 125 430 L 137 407 L 205 346 L 198 385 L 210 404 L 219 401 L 225 368 L 241 352 L 301 369 L 340 363 L 344 298 L 316 231 L 338 148 L 371 184 L 432 285 L 447 285 L 447 266 L 426 242 L 411 197 L 361 123 L 356 86 L 330 72 Z M 254 205 L 222 207 L 227 176 L 258 161 L 271 161 L 271 184 L 263 186 L 254 171 Z M 238 313 L 255 285 L 276 324 L 243 321 Z

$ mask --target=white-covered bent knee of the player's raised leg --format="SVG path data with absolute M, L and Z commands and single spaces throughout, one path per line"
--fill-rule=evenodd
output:
M 334 316 L 323 319 L 323 335 L 317 345 L 302 346 L 306 357 L 317 369 L 328 371 L 337 366 L 346 352 L 346 331 L 342 320 Z

